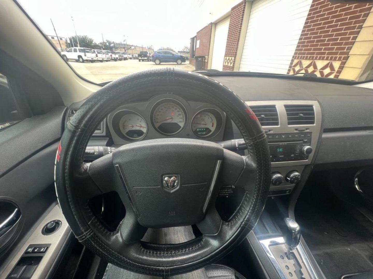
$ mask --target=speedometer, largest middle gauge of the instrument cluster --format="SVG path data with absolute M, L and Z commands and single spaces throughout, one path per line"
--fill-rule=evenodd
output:
M 185 126 L 185 108 L 176 100 L 161 100 L 154 105 L 152 113 L 152 124 L 163 135 L 175 135 Z

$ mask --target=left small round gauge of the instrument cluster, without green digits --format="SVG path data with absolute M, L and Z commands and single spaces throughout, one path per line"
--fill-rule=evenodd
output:
M 138 140 L 146 134 L 147 125 L 140 115 L 128 113 L 120 119 L 119 129 L 130 140 Z

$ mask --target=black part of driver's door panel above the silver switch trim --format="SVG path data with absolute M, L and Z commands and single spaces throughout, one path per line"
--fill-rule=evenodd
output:
M 11 237 L 6 241 L 1 239 L 7 234 L 0 237 L 0 273 L 38 219 L 56 202 L 54 160 L 65 111 L 65 107 L 56 107 L 0 132 L 0 201 L 10 201 L 21 211 Z

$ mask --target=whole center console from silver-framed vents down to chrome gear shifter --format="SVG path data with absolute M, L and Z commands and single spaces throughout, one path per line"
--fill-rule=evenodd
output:
M 247 105 L 267 136 L 272 171 L 269 195 L 289 195 L 307 179 L 309 168 L 306 167 L 314 161 L 321 131 L 320 105 L 311 100 L 253 101 Z M 235 140 L 237 148 L 240 143 Z M 260 257 L 266 276 L 322 278 L 315 271 L 318 266 L 307 252 L 300 227 L 287 216 L 286 205 L 281 200 L 269 199 L 256 227 L 248 235 L 252 251 Z

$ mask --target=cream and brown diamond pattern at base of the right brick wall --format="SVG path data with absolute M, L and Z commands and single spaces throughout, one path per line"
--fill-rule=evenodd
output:
M 316 74 L 318 77 L 335 77 L 341 61 L 294 60 L 290 74 Z

